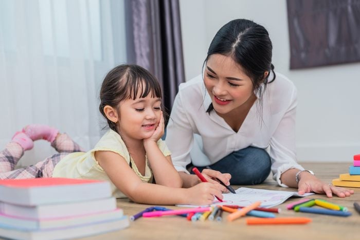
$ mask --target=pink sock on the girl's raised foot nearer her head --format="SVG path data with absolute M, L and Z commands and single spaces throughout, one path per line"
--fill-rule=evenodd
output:
M 33 141 L 44 139 L 46 141 L 53 142 L 58 135 L 59 130 L 48 125 L 30 124 L 24 127 L 23 132 Z

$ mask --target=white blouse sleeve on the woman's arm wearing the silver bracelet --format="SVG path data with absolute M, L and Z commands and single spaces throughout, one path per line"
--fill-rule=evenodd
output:
M 273 178 L 282 187 L 287 187 L 280 181 L 280 176 L 283 172 L 293 168 L 304 170 L 301 165 L 297 163 L 295 153 L 296 95 L 297 92 L 294 87 L 290 105 L 270 140 L 269 155 L 272 159 L 271 169 Z

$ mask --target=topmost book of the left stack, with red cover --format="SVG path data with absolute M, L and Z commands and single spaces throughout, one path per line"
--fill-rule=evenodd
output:
M 0 201 L 35 206 L 111 197 L 110 182 L 72 178 L 0 180 Z

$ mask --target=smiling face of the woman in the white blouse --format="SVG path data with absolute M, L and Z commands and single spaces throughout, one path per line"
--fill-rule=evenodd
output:
M 241 66 L 221 54 L 213 54 L 207 60 L 204 83 L 219 114 L 236 110 L 254 95 L 253 83 Z

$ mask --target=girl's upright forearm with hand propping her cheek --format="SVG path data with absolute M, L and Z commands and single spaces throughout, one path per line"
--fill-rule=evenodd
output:
M 163 135 L 164 117 L 161 112 L 161 118 L 158 126 L 150 138 L 143 139 L 143 145 L 145 147 L 156 184 L 173 188 L 181 188 L 183 181 L 172 164 L 171 156 L 165 157 L 157 145 L 157 141 Z

